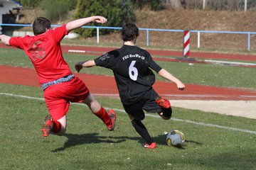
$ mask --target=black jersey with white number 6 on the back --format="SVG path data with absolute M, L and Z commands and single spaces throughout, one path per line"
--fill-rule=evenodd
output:
M 152 88 L 159 67 L 149 52 L 137 46 L 123 45 L 95 59 L 100 67 L 112 69 L 122 103 L 132 104 Z M 151 69 L 150 69 L 151 68 Z

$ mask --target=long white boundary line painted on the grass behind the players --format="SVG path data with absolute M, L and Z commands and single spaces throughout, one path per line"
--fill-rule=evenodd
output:
M 35 99 L 35 100 L 38 100 L 38 101 L 44 101 L 44 98 L 36 98 L 36 97 L 31 97 L 31 96 L 23 96 L 23 95 L 16 95 L 16 94 L 6 94 L 6 93 L 0 93 L 0 95 L 2 95 L 2 96 L 19 97 L 19 98 Z M 82 103 L 72 103 L 72 104 L 80 105 L 80 106 L 85 106 L 85 104 L 82 104 Z M 107 108 L 107 109 L 110 109 L 110 108 Z M 122 110 L 122 109 L 114 108 L 114 110 L 125 113 L 125 111 Z M 151 115 L 151 114 L 146 114 L 146 115 L 154 117 L 154 118 L 160 118 L 159 115 Z M 214 125 L 214 124 L 210 124 L 210 123 L 200 123 L 200 122 L 198 123 L 198 122 L 195 122 L 195 121 L 192 121 L 192 120 L 182 120 L 182 119 L 177 119 L 177 118 L 171 118 L 171 120 L 179 121 L 179 122 L 185 122 L 185 123 L 191 123 L 193 125 L 202 125 L 202 126 L 206 126 L 206 127 L 221 128 L 221 129 L 225 129 L 225 130 L 233 130 L 233 131 L 237 131 L 237 132 L 247 132 L 247 133 L 256 135 L 256 131 L 252 131 L 252 130 L 245 130 L 245 129 L 240 129 L 240 128 L 232 128 L 232 127 L 228 127 L 228 126 Z

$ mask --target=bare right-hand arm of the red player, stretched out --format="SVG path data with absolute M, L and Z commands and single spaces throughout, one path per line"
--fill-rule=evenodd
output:
M 87 23 L 96 22 L 96 23 L 107 23 L 107 18 L 103 16 L 90 16 L 87 18 L 80 18 L 78 20 L 70 21 L 67 23 L 66 28 L 68 32 L 74 30 L 75 28 L 80 28 L 85 26 Z

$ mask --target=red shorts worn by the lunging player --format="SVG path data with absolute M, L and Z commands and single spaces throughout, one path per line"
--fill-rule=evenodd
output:
M 70 102 L 82 102 L 88 94 L 85 83 L 74 77 L 71 81 L 48 86 L 43 96 L 53 120 L 58 120 L 68 113 Z

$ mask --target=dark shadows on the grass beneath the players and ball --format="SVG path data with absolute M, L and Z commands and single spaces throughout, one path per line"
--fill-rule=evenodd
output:
M 144 140 L 142 137 L 138 135 L 138 137 L 127 137 L 127 136 L 120 136 L 120 137 L 110 137 L 110 136 L 100 136 L 98 133 L 87 133 L 87 134 L 65 134 L 65 137 L 68 140 L 65 142 L 63 147 L 59 147 L 54 149 L 52 152 L 60 152 L 65 150 L 68 147 L 74 147 L 77 145 L 86 145 L 90 143 L 121 143 L 126 140 L 135 140 L 139 142 L 139 144 L 144 145 Z M 158 135 L 157 137 L 153 137 L 156 141 L 157 145 L 166 145 L 166 135 Z M 194 142 L 191 140 L 186 140 L 186 142 L 192 142 L 196 145 L 202 145 L 199 142 Z M 186 143 L 185 142 L 185 143 Z M 185 147 L 186 145 L 184 145 Z M 185 149 L 184 147 L 179 147 L 178 149 Z

